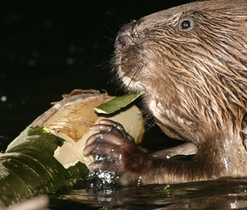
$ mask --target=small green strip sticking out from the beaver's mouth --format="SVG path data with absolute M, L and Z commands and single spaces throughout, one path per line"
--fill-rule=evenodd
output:
M 118 96 L 110 101 L 107 101 L 95 107 L 94 109 L 99 114 L 112 114 L 120 110 L 121 108 L 128 106 L 142 94 L 143 92 L 139 92 L 139 93 L 132 93 L 124 96 Z

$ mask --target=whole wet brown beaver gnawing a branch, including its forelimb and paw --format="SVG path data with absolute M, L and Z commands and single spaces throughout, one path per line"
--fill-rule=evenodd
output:
M 195 145 L 191 160 L 148 155 L 117 122 L 103 120 L 84 154 L 121 185 L 247 177 L 247 1 L 192 2 L 124 25 L 113 70 L 171 138 Z M 161 155 L 162 156 L 162 155 Z

